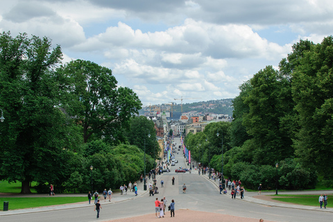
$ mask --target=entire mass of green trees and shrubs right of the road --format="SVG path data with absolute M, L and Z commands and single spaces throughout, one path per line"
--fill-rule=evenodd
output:
M 332 36 L 321 44 L 300 40 L 292 49 L 279 70 L 268 66 L 239 87 L 230 125 L 214 123 L 224 127 L 224 175 L 249 188 L 275 187 L 277 163 L 280 188 L 313 188 L 318 179 L 332 187 Z M 201 144 L 206 165 L 210 148 L 210 165 L 219 170 L 221 144 L 212 142 L 216 130 L 209 126 L 185 141 L 194 150 Z

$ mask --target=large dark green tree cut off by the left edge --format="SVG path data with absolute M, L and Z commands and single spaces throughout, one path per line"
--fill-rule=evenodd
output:
M 76 126 L 60 105 L 67 92 L 54 68 L 60 46 L 51 49 L 47 37 L 0 34 L 0 106 L 6 113 L 1 124 L 1 179 L 61 183 L 68 155 L 74 147 Z

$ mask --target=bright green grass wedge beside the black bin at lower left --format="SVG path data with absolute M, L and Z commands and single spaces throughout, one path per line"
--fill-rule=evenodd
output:
M 0 203 L 8 201 L 8 210 L 17 210 L 33 207 L 44 207 L 51 205 L 60 205 L 65 203 L 78 203 L 87 201 L 87 197 L 26 197 L 26 198 L 0 198 Z M 3 210 L 3 204 L 0 205 L 0 210 Z

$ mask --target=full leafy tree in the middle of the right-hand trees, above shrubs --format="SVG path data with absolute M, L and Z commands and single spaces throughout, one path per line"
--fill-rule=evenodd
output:
M 244 100 L 250 110 L 244 114 L 243 124 L 257 146 L 250 151 L 254 152 L 253 163 L 273 164 L 293 156 L 292 139 L 281 126 L 282 118 L 293 112 L 289 79 L 266 67 L 250 83 L 253 88 Z

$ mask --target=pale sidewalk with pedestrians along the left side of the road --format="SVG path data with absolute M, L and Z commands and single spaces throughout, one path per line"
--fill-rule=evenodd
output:
M 162 176 L 162 175 L 161 175 Z M 160 175 L 156 176 L 156 179 L 160 178 Z M 102 205 L 108 205 L 108 204 L 114 204 L 119 203 L 127 200 L 133 200 L 134 198 L 137 198 L 139 196 L 142 196 L 148 192 L 148 184 L 149 182 L 153 182 L 153 179 L 148 180 L 147 182 L 147 190 L 144 190 L 144 182 L 140 182 L 140 180 L 137 181 L 137 196 L 135 196 L 135 193 L 132 191 L 129 191 L 127 194 L 121 195 L 120 192 L 113 194 L 111 202 L 109 202 L 109 198 L 106 198 L 106 201 L 104 201 L 104 196 L 100 192 L 100 198 Z M 87 194 L 56 194 L 56 196 L 86 196 Z M 45 198 L 52 198 L 53 196 L 49 196 L 48 194 L 28 194 L 28 195 L 20 195 L 20 194 L 10 194 L 10 195 L 2 195 L 1 197 L 45 197 Z M 10 210 L 10 203 L 9 203 L 9 210 L 8 211 L 0 211 L 0 216 L 5 215 L 14 215 L 14 214 L 28 214 L 28 213 L 37 213 L 37 212 L 48 212 L 53 210 L 66 210 L 66 209 L 72 209 L 72 208 L 78 208 L 78 207 L 94 207 L 94 198 L 91 201 L 91 204 L 87 201 L 81 202 L 81 203 L 68 203 L 64 205 L 53 205 L 53 206 L 47 206 L 47 207 L 35 207 L 35 208 L 26 208 L 21 210 Z

